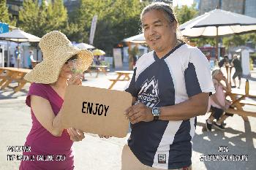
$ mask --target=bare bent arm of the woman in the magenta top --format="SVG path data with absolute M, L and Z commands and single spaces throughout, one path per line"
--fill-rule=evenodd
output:
M 55 116 L 50 102 L 42 97 L 31 95 L 31 109 L 42 127 L 53 136 L 61 136 L 63 127 L 61 125 L 61 110 Z

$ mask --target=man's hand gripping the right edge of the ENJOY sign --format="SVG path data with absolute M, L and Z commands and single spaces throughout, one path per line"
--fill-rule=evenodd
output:
M 152 111 L 150 107 L 147 107 L 145 104 L 139 103 L 135 104 L 132 107 L 129 107 L 125 111 L 125 115 L 129 119 L 132 124 L 138 122 L 150 122 L 154 120 L 154 116 L 152 115 Z

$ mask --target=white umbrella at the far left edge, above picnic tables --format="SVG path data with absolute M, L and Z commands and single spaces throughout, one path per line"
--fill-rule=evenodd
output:
M 40 38 L 32 34 L 21 31 L 20 29 L 14 29 L 10 32 L 0 34 L 0 39 L 10 42 L 39 42 Z

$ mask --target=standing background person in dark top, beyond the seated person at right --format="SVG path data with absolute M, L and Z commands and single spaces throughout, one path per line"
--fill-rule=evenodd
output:
M 233 61 L 231 62 L 231 66 L 235 67 L 236 72 L 233 74 L 233 82 L 234 82 L 234 86 L 232 86 L 232 88 L 236 88 L 236 77 L 238 77 L 239 80 L 239 86 L 238 88 L 241 87 L 241 76 L 243 74 L 243 69 L 241 66 L 241 61 L 238 60 L 238 55 L 234 54 L 233 55 Z

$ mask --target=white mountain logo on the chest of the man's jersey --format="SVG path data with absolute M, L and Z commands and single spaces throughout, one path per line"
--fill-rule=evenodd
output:
M 152 77 L 141 85 L 140 92 L 138 93 L 138 101 L 145 104 L 147 107 L 155 107 L 159 103 L 159 90 L 158 81 Z

